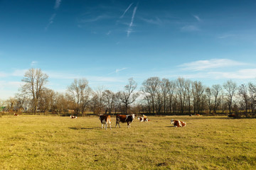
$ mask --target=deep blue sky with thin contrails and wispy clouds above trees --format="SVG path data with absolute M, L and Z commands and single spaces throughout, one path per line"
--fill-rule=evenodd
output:
M 0 0 L 0 99 L 26 70 L 48 88 L 85 77 L 119 91 L 133 77 L 202 81 L 256 78 L 256 1 Z

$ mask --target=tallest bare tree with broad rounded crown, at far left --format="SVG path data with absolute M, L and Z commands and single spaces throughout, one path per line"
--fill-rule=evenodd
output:
M 21 87 L 23 93 L 32 97 L 33 111 L 36 114 L 38 108 L 38 100 L 42 94 L 45 85 L 48 82 L 48 75 L 43 73 L 41 69 L 28 69 L 21 80 L 25 84 Z

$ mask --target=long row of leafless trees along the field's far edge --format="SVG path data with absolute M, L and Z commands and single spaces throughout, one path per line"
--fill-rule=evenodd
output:
M 232 80 L 223 85 L 204 86 L 201 81 L 149 77 L 140 89 L 128 79 L 122 91 L 98 88 L 93 91 L 87 79 L 74 79 L 65 93 L 47 89 L 48 75 L 41 69 L 29 69 L 23 86 L 14 98 L 4 101 L 9 111 L 41 113 L 149 113 L 209 114 L 255 113 L 256 84 L 236 84 Z M 4 105 L 1 101 L 0 106 Z

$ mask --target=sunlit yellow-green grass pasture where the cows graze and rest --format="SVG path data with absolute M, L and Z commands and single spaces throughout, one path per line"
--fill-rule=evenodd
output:
M 174 128 L 170 120 L 185 121 Z M 0 118 L 0 169 L 256 169 L 256 119 L 166 116 L 102 130 L 96 116 Z

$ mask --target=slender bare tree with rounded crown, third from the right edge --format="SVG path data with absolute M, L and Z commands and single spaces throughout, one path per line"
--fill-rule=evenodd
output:
M 235 91 L 237 91 L 237 84 L 231 80 L 228 80 L 225 84 L 223 84 L 223 88 L 227 91 L 227 101 L 228 101 L 228 111 L 231 113 L 233 97 L 235 95 Z

